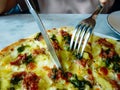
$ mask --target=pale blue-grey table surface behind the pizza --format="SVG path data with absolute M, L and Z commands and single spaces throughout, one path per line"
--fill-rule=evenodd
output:
M 45 28 L 51 29 L 62 26 L 76 26 L 90 14 L 40 14 L 40 16 Z M 120 36 L 108 26 L 107 16 L 107 14 L 100 14 L 97 17 L 94 32 L 120 40 Z M 0 49 L 39 31 L 31 14 L 0 16 Z

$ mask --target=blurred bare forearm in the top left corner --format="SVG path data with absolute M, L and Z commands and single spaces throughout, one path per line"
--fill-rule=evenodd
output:
M 9 11 L 17 4 L 17 0 L 0 0 L 0 14 Z

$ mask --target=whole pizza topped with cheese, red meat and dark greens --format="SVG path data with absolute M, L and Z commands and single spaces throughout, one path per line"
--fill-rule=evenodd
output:
M 73 30 L 47 30 L 63 70 L 40 32 L 2 49 L 0 90 L 119 90 L 120 42 L 93 34 L 80 57 L 69 47 Z

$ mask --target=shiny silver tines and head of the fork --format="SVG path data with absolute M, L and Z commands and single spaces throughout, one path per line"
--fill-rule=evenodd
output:
M 92 29 L 93 28 L 90 25 L 79 24 L 73 32 L 70 42 L 70 49 L 76 51 L 77 54 L 80 53 L 81 57 L 87 41 L 92 33 Z

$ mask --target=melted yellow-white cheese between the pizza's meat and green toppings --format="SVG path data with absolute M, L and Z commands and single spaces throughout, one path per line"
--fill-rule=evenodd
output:
M 89 40 L 89 43 L 87 44 L 85 48 L 85 53 L 83 55 L 83 58 L 86 60 L 86 65 L 82 66 L 81 63 L 77 63 L 77 58 L 73 54 L 72 51 L 67 51 L 64 49 L 65 41 L 60 33 L 61 30 L 64 30 L 68 32 L 70 35 L 72 34 L 72 31 L 74 28 L 72 27 L 62 27 L 58 28 L 56 30 L 51 30 L 48 32 L 49 36 L 52 37 L 52 35 L 56 35 L 56 39 L 58 41 L 59 46 L 61 47 L 60 50 L 56 50 L 57 55 L 59 57 L 59 60 L 63 66 L 63 69 L 66 72 L 71 72 L 72 74 L 76 74 L 78 76 L 78 79 L 86 79 L 88 74 L 88 69 L 92 70 L 93 77 L 95 79 L 94 82 L 96 84 L 93 86 L 93 90 L 99 89 L 99 90 L 105 90 L 106 88 L 109 90 L 113 90 L 112 85 L 101 75 L 98 74 L 98 68 L 105 66 L 105 62 L 103 62 L 102 58 L 99 56 L 101 53 L 101 46 L 96 43 L 96 41 L 100 38 L 97 36 L 92 36 Z M 120 43 L 118 43 L 115 40 L 107 39 L 107 41 L 111 42 L 115 45 L 115 50 L 120 55 Z M 18 52 L 17 49 L 21 46 L 26 46 L 24 51 Z M 45 53 L 39 53 L 34 55 L 35 49 L 41 49 L 44 48 Z M 91 57 L 89 56 L 90 53 L 93 56 L 93 59 L 91 60 Z M 27 54 L 32 55 L 33 63 L 36 65 L 35 68 L 29 70 L 27 69 L 27 65 L 25 63 L 22 63 L 20 65 L 11 65 L 11 61 L 15 61 L 18 58 L 18 54 Z M 47 49 L 46 43 L 43 39 L 40 41 L 37 40 L 27 40 L 23 42 L 22 44 L 14 47 L 14 50 L 11 51 L 8 55 L 5 55 L 0 59 L 0 89 L 1 90 L 7 90 L 10 88 L 10 80 L 12 75 L 15 72 L 34 72 L 37 76 L 40 77 L 38 86 L 39 90 L 78 90 L 78 88 L 74 87 L 74 85 L 70 82 L 66 83 L 65 80 L 59 79 L 58 81 L 53 81 L 51 78 L 49 78 L 48 73 L 49 70 L 45 70 L 43 67 L 48 67 L 49 69 L 53 68 L 55 64 L 52 62 L 52 57 L 50 55 L 50 52 Z M 84 64 L 84 62 L 83 62 Z M 111 66 L 112 67 L 112 66 Z M 114 72 L 111 70 L 108 70 L 108 76 L 107 78 L 114 79 Z M 22 84 L 22 81 L 19 83 Z M 22 85 L 16 86 L 16 90 L 21 90 L 24 87 Z M 91 90 L 91 88 L 88 85 L 85 85 L 85 90 Z

